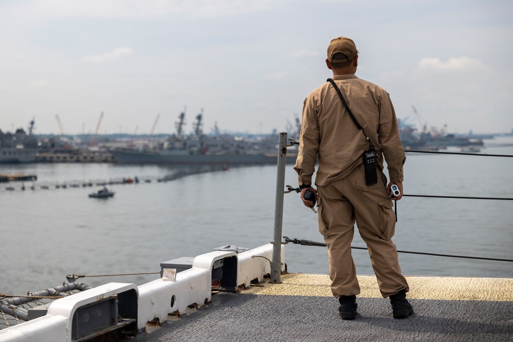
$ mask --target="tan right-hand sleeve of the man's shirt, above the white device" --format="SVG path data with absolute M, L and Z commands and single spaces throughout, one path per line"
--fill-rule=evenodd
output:
M 380 96 L 379 142 L 383 149 L 390 182 L 403 182 L 403 165 L 406 160 L 399 136 L 396 112 L 390 96 L 384 90 Z

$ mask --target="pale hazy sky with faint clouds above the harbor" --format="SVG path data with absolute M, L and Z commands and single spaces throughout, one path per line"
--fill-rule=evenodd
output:
M 357 75 L 397 116 L 449 132 L 513 128 L 513 2 L 0 0 L 0 129 L 285 131 L 351 37 Z M 419 116 L 413 112 L 415 106 Z

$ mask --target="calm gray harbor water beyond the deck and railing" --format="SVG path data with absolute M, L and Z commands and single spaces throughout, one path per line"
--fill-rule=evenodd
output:
M 508 137 L 487 154 L 513 155 Z M 103 164 L 2 165 L 0 173 L 36 174 L 37 184 L 121 177 L 162 177 L 183 169 Z M 513 158 L 407 154 L 406 194 L 513 197 Z M 285 184 L 296 186 L 292 166 Z M 274 226 L 275 166 L 230 168 L 166 183 L 112 185 L 107 200 L 93 188 L 5 191 L 0 186 L 0 293 L 60 285 L 66 274 L 160 271 L 162 261 L 224 245 L 269 243 Z M 28 185 L 28 184 L 26 184 Z M 322 242 L 317 215 L 297 193 L 284 199 L 283 235 Z M 404 197 L 393 240 L 398 250 L 513 259 L 513 202 Z M 358 234 L 353 246 L 364 247 Z M 290 272 L 327 273 L 322 247 L 285 245 Z M 353 250 L 358 274 L 373 274 L 367 251 Z M 513 263 L 400 254 L 405 275 L 513 277 Z M 141 285 L 156 275 L 90 277 Z

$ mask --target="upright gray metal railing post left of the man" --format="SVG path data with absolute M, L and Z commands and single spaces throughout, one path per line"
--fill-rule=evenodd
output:
M 287 160 L 287 133 L 280 133 L 278 143 L 278 172 L 276 176 L 276 202 L 274 205 L 274 240 L 271 242 L 271 280 L 269 283 L 281 283 L 282 270 L 282 223 L 283 223 L 283 194 L 285 189 L 285 164 Z

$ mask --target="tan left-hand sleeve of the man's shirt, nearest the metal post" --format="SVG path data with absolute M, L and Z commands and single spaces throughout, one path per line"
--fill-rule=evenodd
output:
M 301 116 L 301 134 L 299 136 L 298 158 L 294 170 L 298 172 L 298 184 L 312 184 L 312 175 L 319 153 L 319 120 L 317 101 L 310 93 L 303 104 Z

